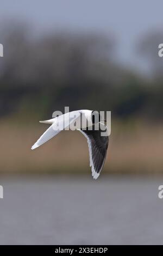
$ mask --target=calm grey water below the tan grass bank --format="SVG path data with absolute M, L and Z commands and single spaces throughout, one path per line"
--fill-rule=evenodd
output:
M 163 177 L 1 178 L 0 244 L 163 244 Z

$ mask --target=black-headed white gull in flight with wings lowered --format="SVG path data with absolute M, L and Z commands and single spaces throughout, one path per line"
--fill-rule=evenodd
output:
M 109 137 L 104 120 L 101 120 L 101 115 L 97 111 L 87 109 L 72 111 L 40 123 L 51 124 L 51 126 L 32 146 L 32 150 L 40 147 L 62 130 L 78 130 L 87 139 L 92 176 L 94 179 L 98 178 L 104 166 Z M 105 132 L 105 135 L 102 136 L 102 132 Z

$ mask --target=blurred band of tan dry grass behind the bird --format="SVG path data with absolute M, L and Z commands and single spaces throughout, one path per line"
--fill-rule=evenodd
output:
M 78 131 L 63 131 L 43 147 L 30 150 L 46 128 L 1 121 L 0 172 L 89 172 L 87 142 Z M 162 172 L 162 128 L 114 123 L 104 171 Z

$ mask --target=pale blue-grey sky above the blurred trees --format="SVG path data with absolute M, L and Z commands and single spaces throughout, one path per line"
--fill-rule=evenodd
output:
M 0 21 L 4 19 L 27 20 L 43 32 L 62 28 L 112 33 L 119 60 L 139 67 L 145 63 L 134 55 L 134 46 L 141 34 L 162 29 L 163 1 L 1 0 Z

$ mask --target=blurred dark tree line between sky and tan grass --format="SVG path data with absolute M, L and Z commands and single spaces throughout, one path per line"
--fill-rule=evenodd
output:
M 162 118 L 163 34 L 145 35 L 137 45 L 151 77 L 116 63 L 116 41 L 101 34 L 55 32 L 35 35 L 27 25 L 1 29 L 0 117 L 26 111 L 51 117 L 64 106 L 112 111 L 116 117 Z M 26 113 L 24 113 L 26 114 Z

